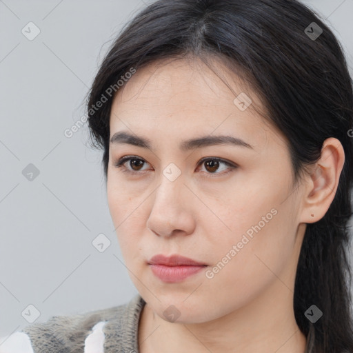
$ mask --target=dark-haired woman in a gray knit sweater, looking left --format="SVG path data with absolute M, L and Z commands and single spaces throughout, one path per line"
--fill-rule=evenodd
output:
M 352 81 L 312 10 L 156 1 L 87 109 L 139 295 L 26 327 L 26 352 L 353 352 Z

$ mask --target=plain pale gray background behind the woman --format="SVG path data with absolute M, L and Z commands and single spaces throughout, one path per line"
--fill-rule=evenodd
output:
M 352 74 L 353 0 L 304 2 L 328 18 Z M 146 3 L 0 0 L 0 336 L 28 325 L 30 304 L 39 322 L 137 294 L 110 219 L 101 152 L 89 147 L 86 124 L 71 138 L 63 132 L 83 116 L 117 31 Z M 21 33 L 30 21 L 41 31 L 32 41 Z M 32 181 L 22 174 L 29 163 L 39 170 Z M 104 252 L 92 245 L 101 233 L 111 242 Z

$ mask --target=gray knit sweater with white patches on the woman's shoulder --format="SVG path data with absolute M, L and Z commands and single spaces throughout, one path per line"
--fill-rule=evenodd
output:
M 52 316 L 44 323 L 28 325 L 21 332 L 23 336 L 28 335 L 34 353 L 139 353 L 138 327 L 144 305 L 145 301 L 137 294 L 124 305 L 84 314 Z M 88 336 L 92 336 L 92 328 L 99 323 L 103 350 L 94 348 L 97 344 L 93 343 L 88 347 L 94 341 Z M 9 352 L 13 351 L 14 346 L 6 347 Z M 0 352 L 5 352 L 1 345 Z

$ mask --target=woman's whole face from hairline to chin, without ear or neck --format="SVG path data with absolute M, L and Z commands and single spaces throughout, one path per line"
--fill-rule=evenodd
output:
M 168 321 L 201 323 L 293 295 L 301 188 L 283 136 L 234 98 L 200 61 L 168 61 L 137 70 L 112 103 L 110 138 L 134 140 L 110 143 L 110 214 L 132 282 Z M 233 143 L 212 143 L 221 136 Z M 203 266 L 151 265 L 157 254 Z

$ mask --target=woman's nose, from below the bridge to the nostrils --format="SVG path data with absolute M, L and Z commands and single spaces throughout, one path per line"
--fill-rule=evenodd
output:
M 163 174 L 155 190 L 147 228 L 158 236 L 188 235 L 194 232 L 192 192 L 179 177 L 170 181 Z

